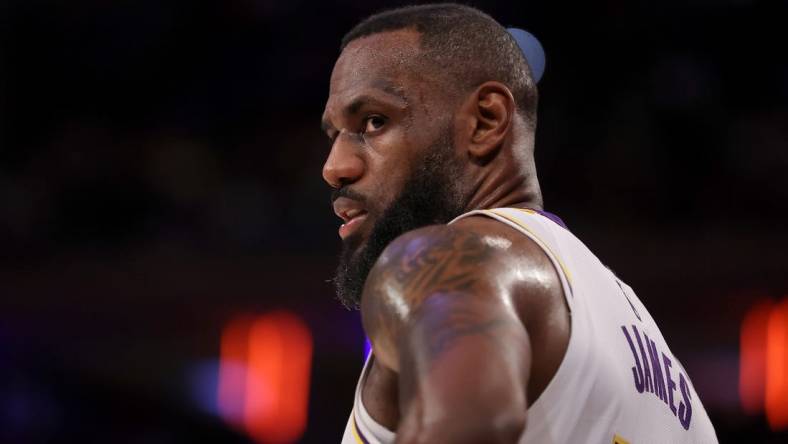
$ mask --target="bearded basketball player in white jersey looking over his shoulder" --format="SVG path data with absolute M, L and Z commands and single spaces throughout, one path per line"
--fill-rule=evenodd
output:
M 537 91 L 452 4 L 374 15 L 331 74 L 339 298 L 373 353 L 350 443 L 716 443 L 632 289 L 542 210 Z

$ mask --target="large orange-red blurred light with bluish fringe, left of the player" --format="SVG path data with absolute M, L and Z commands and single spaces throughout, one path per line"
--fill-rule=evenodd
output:
M 296 442 L 307 421 L 312 335 L 277 311 L 232 321 L 222 334 L 219 411 L 255 441 Z

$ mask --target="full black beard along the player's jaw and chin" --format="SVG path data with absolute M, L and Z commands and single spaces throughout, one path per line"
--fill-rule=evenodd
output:
M 359 308 L 367 275 L 391 241 L 416 228 L 445 224 L 463 213 L 465 202 L 457 187 L 460 167 L 453 151 L 445 134 L 428 148 L 402 192 L 375 223 L 369 240 L 360 244 L 351 236 L 343 242 L 333 282 L 345 307 Z

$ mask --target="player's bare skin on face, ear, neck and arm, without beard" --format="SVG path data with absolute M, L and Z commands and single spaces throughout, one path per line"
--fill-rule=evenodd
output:
M 363 196 L 363 205 L 339 205 L 343 219 L 348 209 L 365 214 L 343 233 L 361 244 L 413 159 L 447 126 L 464 165 L 456 185 L 466 211 L 541 206 L 533 130 L 509 89 L 490 81 L 448 94 L 415 65 L 418 40 L 412 30 L 357 39 L 331 76 L 323 176 Z M 394 240 L 366 280 L 361 312 L 374 349 L 362 399 L 398 443 L 516 442 L 570 333 L 561 282 L 545 253 L 481 216 Z

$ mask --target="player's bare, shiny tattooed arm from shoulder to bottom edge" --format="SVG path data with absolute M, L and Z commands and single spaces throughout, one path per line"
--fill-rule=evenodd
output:
M 494 223 L 494 222 L 487 222 Z M 375 356 L 398 373 L 397 442 L 516 442 L 531 368 L 511 241 L 458 226 L 386 249 L 362 299 Z

